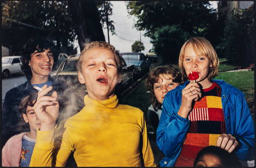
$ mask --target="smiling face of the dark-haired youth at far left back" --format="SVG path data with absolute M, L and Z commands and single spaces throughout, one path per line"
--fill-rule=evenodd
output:
M 29 61 L 32 76 L 49 76 L 53 62 L 53 54 L 50 49 L 45 49 L 43 52 L 35 50 Z

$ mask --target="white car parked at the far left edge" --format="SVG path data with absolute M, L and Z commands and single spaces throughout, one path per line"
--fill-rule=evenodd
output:
M 2 76 L 6 78 L 16 73 L 23 73 L 21 70 L 21 56 L 2 57 Z

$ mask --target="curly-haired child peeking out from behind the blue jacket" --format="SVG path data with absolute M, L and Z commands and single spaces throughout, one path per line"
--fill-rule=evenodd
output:
M 161 117 L 164 96 L 182 83 L 183 76 L 178 68 L 159 66 L 150 71 L 147 84 L 152 104 L 148 108 L 148 120 L 154 129 L 154 137 Z

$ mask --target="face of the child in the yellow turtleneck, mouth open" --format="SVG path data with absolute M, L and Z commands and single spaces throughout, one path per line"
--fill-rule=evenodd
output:
M 112 51 L 91 48 L 83 55 L 78 80 L 85 83 L 88 96 L 95 100 L 106 100 L 114 96 L 114 88 L 121 81 Z

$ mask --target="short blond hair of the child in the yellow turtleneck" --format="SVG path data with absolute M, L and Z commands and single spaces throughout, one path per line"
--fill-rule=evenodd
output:
M 117 64 L 117 72 L 118 72 L 118 74 L 120 74 L 122 72 L 123 64 L 121 62 L 121 58 L 120 58 L 118 50 L 115 50 L 114 46 L 112 46 L 111 44 L 109 44 L 105 41 L 93 41 L 93 42 L 87 43 L 85 45 L 84 49 L 82 50 L 82 52 L 80 54 L 78 62 L 77 62 L 78 71 L 80 71 L 80 72 L 82 71 L 82 63 L 83 63 L 84 54 L 86 53 L 86 51 L 88 51 L 89 49 L 92 49 L 92 48 L 104 48 L 104 49 L 108 49 L 109 51 L 112 51 L 112 53 L 114 54 L 115 63 Z

